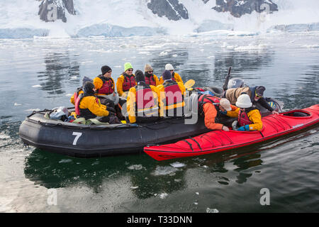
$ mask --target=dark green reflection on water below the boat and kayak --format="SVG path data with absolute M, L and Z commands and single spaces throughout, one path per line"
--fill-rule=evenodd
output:
M 199 168 L 208 170 L 217 177 L 216 184 L 228 184 L 235 181 L 245 183 L 252 176 L 247 172 L 250 167 L 262 164 L 261 155 L 247 149 L 232 150 L 200 157 L 157 162 L 145 154 L 104 157 L 96 159 L 78 159 L 48 153 L 35 149 L 25 160 L 26 178 L 47 188 L 72 187 L 84 184 L 93 192 L 99 193 L 103 185 L 110 181 L 120 181 L 124 176 L 130 178 L 131 191 L 139 199 L 147 199 L 162 193 L 172 194 L 187 187 L 187 170 Z M 243 157 L 242 157 L 243 156 Z M 237 166 L 236 179 L 231 178 L 225 163 L 234 160 Z M 174 167 L 174 162 L 183 166 Z M 171 165 L 172 164 L 172 165 Z M 230 171 L 233 172 L 233 171 Z

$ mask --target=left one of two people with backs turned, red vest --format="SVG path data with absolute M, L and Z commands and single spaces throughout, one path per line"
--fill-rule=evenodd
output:
M 159 116 L 159 92 L 155 86 L 145 83 L 142 71 L 136 70 L 137 85 L 128 91 L 126 109 L 130 123 L 145 123 L 156 121 Z M 162 116 L 162 114 L 160 114 Z

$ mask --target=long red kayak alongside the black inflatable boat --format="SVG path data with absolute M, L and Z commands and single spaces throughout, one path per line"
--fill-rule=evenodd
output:
M 319 105 L 264 116 L 262 123 L 262 131 L 210 131 L 177 143 L 147 146 L 144 151 L 155 160 L 162 161 L 241 148 L 319 123 Z

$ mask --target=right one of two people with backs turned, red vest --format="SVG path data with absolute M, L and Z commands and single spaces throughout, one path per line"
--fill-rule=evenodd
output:
M 186 89 L 183 82 L 174 81 L 169 70 L 163 72 L 162 79 L 164 79 L 164 83 L 159 84 L 157 90 L 164 105 L 165 116 L 184 116 L 184 92 Z

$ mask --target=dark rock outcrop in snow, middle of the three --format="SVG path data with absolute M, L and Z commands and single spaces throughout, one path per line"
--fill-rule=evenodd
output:
M 187 9 L 183 4 L 179 3 L 179 0 L 151 0 L 147 7 L 159 17 L 166 16 L 172 21 L 189 18 Z

